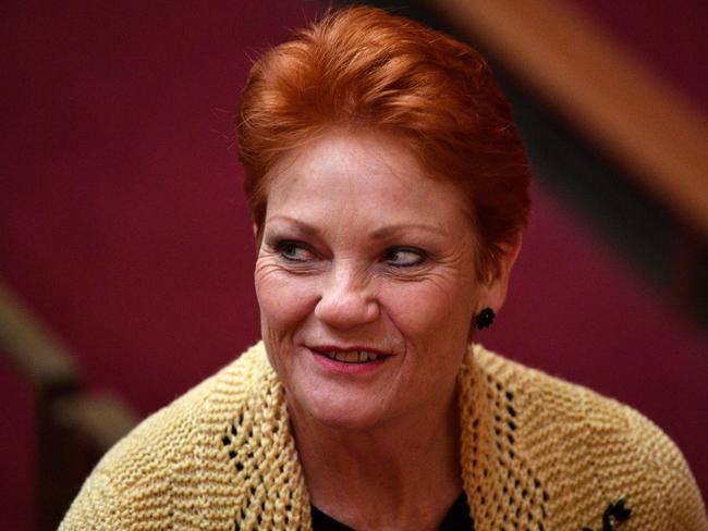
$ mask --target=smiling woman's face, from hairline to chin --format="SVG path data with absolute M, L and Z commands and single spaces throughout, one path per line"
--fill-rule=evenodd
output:
M 271 176 L 255 284 L 293 415 L 365 430 L 449 404 L 491 306 L 463 195 L 380 135 L 331 133 Z

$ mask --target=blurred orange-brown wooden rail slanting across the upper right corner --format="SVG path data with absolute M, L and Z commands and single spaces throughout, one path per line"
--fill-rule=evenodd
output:
M 423 3 L 708 236 L 706 121 L 584 12 L 562 0 Z

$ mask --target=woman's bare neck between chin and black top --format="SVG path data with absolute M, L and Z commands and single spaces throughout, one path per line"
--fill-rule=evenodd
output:
M 454 390 L 429 411 L 366 431 L 290 409 L 313 504 L 352 528 L 437 529 L 462 491 Z

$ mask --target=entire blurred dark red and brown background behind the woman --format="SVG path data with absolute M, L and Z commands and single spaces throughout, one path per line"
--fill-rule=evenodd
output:
M 638 408 L 708 492 L 708 3 L 376 2 L 474 44 L 534 210 L 488 347 Z M 259 337 L 232 124 L 315 0 L 5 2 L 0 529 Z

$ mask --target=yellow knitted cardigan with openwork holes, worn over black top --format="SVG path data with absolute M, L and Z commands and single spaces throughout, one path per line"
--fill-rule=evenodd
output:
M 463 484 L 477 531 L 706 531 L 673 443 L 614 400 L 469 349 L 460 372 Z M 263 344 L 118 443 L 60 530 L 312 528 L 283 387 Z M 606 528 L 612 529 L 612 528 Z

